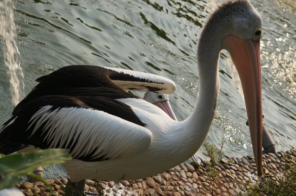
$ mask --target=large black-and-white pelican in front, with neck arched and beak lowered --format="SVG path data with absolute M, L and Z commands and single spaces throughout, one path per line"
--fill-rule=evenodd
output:
M 259 40 L 261 18 L 248 0 L 226 0 L 211 14 L 197 47 L 199 96 L 184 121 L 126 90 L 171 94 L 164 77 L 90 65 L 62 67 L 13 110 L 0 133 L 0 153 L 69 148 L 63 165 L 72 182 L 85 178 L 137 180 L 190 158 L 210 130 L 220 89 L 218 60 L 226 49 L 242 83 L 254 157 L 262 175 Z M 17 137 L 15 137 L 17 135 Z

